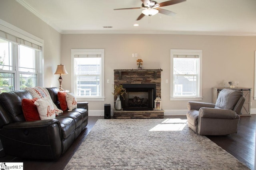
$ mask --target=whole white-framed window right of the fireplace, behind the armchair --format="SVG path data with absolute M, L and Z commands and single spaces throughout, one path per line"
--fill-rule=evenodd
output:
M 171 49 L 170 100 L 202 100 L 202 50 Z

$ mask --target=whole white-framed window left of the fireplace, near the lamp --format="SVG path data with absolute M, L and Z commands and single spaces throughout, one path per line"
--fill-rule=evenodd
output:
M 71 53 L 76 98 L 104 101 L 104 49 L 72 49 Z

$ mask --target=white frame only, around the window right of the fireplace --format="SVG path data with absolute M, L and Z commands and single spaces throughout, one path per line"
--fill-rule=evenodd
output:
M 198 55 L 198 94 L 196 97 L 191 96 L 174 96 L 174 55 Z M 170 50 L 170 100 L 202 100 L 202 50 L 194 49 L 171 49 Z

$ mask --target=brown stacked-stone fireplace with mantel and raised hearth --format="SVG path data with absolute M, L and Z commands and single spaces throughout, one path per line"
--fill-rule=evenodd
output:
M 114 110 L 114 118 L 163 118 L 164 111 L 154 110 L 154 100 L 161 97 L 161 72 L 162 69 L 114 70 L 114 84 L 122 84 L 127 91 L 121 98 L 123 110 Z

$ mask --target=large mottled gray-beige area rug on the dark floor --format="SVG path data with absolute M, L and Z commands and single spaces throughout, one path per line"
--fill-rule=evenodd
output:
M 249 168 L 185 119 L 99 119 L 65 169 Z

